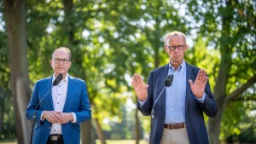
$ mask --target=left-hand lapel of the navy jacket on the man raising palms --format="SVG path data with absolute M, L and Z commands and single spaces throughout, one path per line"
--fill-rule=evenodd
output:
M 163 70 L 160 71 L 160 92 L 162 91 L 162 89 L 165 87 L 165 80 L 167 78 L 168 75 L 168 69 L 169 69 L 169 63 L 166 66 L 162 67 Z M 160 94 L 158 94 L 160 95 Z M 162 103 L 162 108 L 164 113 L 166 113 L 166 89 L 163 91 L 163 93 L 161 94 L 161 103 Z

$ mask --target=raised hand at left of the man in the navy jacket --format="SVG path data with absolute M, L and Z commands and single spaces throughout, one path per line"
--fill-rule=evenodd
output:
M 137 73 L 133 75 L 131 79 L 131 84 L 135 89 L 137 98 L 140 101 L 145 101 L 148 97 L 148 84 L 144 84 L 143 78 Z

